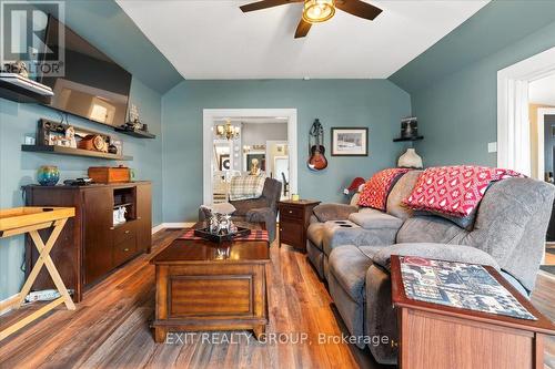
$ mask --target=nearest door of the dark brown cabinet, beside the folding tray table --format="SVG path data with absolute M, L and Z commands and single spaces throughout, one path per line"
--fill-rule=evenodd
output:
M 84 283 L 91 284 L 113 266 L 113 192 L 87 188 L 84 202 Z

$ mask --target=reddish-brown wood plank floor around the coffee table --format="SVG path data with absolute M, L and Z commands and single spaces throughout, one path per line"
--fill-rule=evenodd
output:
M 238 332 L 174 336 L 172 344 L 154 344 L 149 321 L 154 309 L 154 267 L 149 259 L 181 230 L 162 230 L 153 237 L 153 253 L 142 255 L 84 295 L 75 311 L 58 309 L 0 342 L 0 368 L 381 368 L 366 349 L 345 344 L 320 345 L 320 332 L 346 332 L 325 286 L 304 254 L 278 243 L 268 267 L 269 334 L 276 339 L 311 342 L 261 344 Z M 555 279 L 541 275 L 533 301 L 555 320 Z M 0 317 L 0 328 L 28 306 Z M 292 336 L 283 336 L 293 334 Z M 182 342 L 185 341 L 186 342 Z M 269 337 L 270 339 L 270 337 Z M 230 341 L 231 340 L 231 341 Z M 555 339 L 546 344 L 546 368 L 555 369 Z

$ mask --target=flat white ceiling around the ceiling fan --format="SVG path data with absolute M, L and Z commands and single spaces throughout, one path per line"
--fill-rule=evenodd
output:
M 243 13 L 256 0 L 117 0 L 185 79 L 382 79 L 488 1 L 367 1 L 374 21 L 337 10 L 293 39 L 302 3 Z M 138 55 L 140 58 L 140 55 Z

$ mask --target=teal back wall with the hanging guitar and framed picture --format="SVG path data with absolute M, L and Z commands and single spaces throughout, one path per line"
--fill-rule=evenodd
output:
M 386 80 L 184 81 L 162 98 L 164 222 L 194 221 L 202 203 L 203 109 L 297 109 L 299 193 L 344 201 L 342 188 L 395 164 L 404 151 L 393 143 L 400 120 L 411 114 L 410 96 Z M 333 157 L 320 173 L 306 168 L 309 130 L 315 117 L 332 126 L 370 129 L 370 156 Z

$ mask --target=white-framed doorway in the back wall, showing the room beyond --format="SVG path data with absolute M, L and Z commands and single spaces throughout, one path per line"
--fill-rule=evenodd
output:
M 203 203 L 225 202 L 231 178 L 249 175 L 253 166 L 283 187 L 286 180 L 282 198 L 297 192 L 296 110 L 205 109 Z

